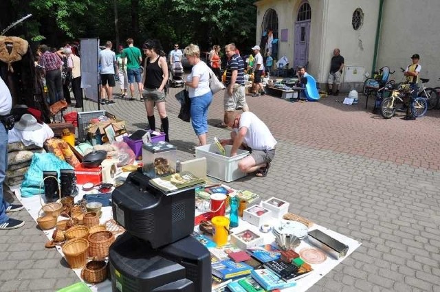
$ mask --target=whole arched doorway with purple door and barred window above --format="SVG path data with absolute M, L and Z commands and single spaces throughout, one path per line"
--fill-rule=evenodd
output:
M 309 63 L 311 8 L 308 2 L 300 5 L 295 23 L 294 67 L 307 66 Z

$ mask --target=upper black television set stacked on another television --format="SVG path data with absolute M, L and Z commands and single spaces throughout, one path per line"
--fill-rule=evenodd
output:
M 142 172 L 132 172 L 111 195 L 113 218 L 153 249 L 189 236 L 194 229 L 195 188 L 164 193 Z

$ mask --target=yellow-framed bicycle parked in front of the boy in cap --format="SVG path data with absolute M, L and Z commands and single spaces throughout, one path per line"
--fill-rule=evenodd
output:
M 386 89 L 390 91 L 391 89 Z M 391 96 L 384 98 L 382 104 L 380 104 L 380 114 L 384 119 L 391 119 L 395 115 L 397 104 L 404 103 L 404 97 L 411 98 L 410 111 L 415 117 L 422 117 L 428 111 L 428 102 L 426 98 L 417 96 L 412 99 L 412 93 L 416 89 L 410 90 L 408 84 L 401 84 L 397 89 L 392 89 Z

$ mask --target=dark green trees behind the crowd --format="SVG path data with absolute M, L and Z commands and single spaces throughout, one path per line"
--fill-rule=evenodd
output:
M 158 38 L 165 48 L 197 43 L 202 49 L 234 42 L 254 44 L 254 0 L 1 0 L 0 30 L 21 16 L 32 18 L 8 35 L 61 45 L 76 38 L 102 41 Z M 117 23 L 118 31 L 115 30 Z M 116 42 L 118 43 L 118 42 Z

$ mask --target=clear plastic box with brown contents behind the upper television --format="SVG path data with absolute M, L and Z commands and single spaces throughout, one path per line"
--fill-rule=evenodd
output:
M 176 172 L 177 148 L 168 142 L 142 146 L 142 172 L 147 177 L 164 177 Z

